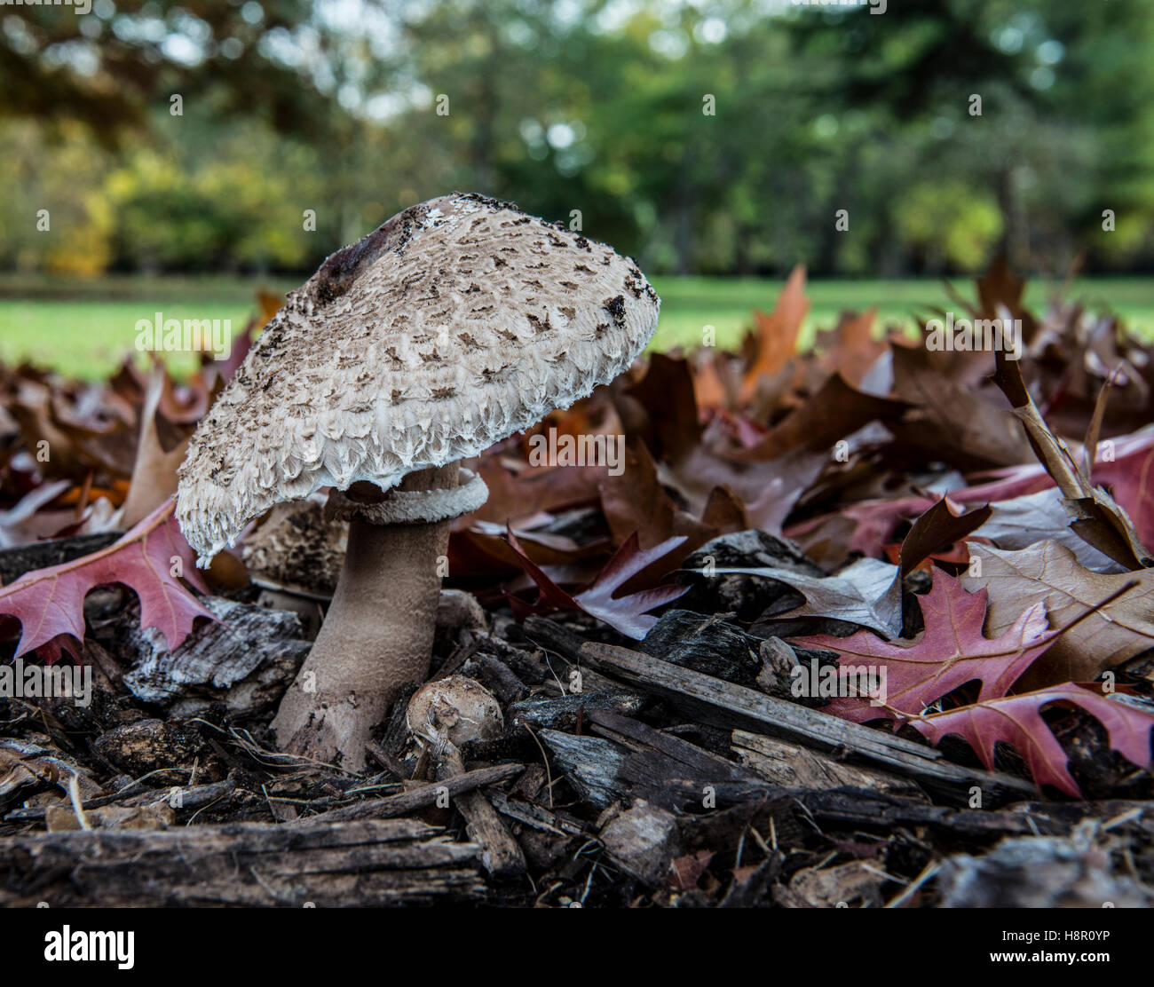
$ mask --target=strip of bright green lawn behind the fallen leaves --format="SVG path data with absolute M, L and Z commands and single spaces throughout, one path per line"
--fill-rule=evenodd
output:
M 284 292 L 294 284 L 223 276 L 110 277 L 85 283 L 0 275 L 0 361 L 28 359 L 70 376 L 96 379 L 133 351 L 141 319 L 152 320 L 157 312 L 164 319 L 228 319 L 239 332 L 255 308 L 258 287 Z M 763 278 L 654 278 L 661 322 L 653 346 L 699 345 L 705 326 L 715 328 L 718 345 L 732 345 L 750 324 L 754 308 L 773 307 L 781 284 Z M 973 296 L 969 282 L 956 279 L 953 284 L 965 297 Z M 1034 283 L 1027 302 L 1041 309 L 1050 291 L 1051 286 Z M 884 322 L 908 326 L 915 314 L 957 307 L 942 283 L 929 279 L 815 281 L 807 294 L 812 308 L 803 342 L 816 328 L 833 326 L 844 309 L 877 305 Z M 1142 335 L 1154 336 L 1154 278 L 1084 278 L 1074 284 L 1072 296 L 1093 309 L 1117 312 Z M 180 373 L 195 361 L 190 354 L 174 354 L 171 362 Z

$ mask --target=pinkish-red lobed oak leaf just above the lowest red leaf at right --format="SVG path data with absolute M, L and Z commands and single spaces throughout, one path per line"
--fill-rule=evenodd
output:
M 1046 605 L 1036 603 L 995 638 L 987 637 L 987 595 L 968 593 L 944 571 L 935 573 L 934 585 L 917 598 L 926 629 L 913 641 L 883 641 L 869 630 L 849 637 L 820 634 L 799 637 L 805 648 L 835 651 L 840 666 L 885 670 L 882 705 L 867 696 L 841 696 L 826 712 L 854 723 L 870 719 L 902 719 L 917 716 L 935 700 L 966 682 L 982 683 L 980 700 L 1004 696 L 1029 664 L 1054 643 L 1046 633 Z

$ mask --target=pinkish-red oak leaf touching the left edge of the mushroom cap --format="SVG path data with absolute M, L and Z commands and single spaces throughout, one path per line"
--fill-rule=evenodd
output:
M 45 648 L 50 664 L 60 657 L 68 635 L 84 637 L 84 597 L 89 590 L 122 583 L 141 601 L 141 627 L 155 627 L 174 650 L 193 629 L 197 616 L 216 620 L 180 583 L 179 573 L 205 590 L 196 571 L 196 556 L 173 519 L 168 500 L 143 518 L 132 531 L 107 548 L 60 566 L 25 573 L 0 589 L 0 615 L 21 623 L 20 645 L 14 657 Z M 54 640 L 55 638 L 55 640 Z

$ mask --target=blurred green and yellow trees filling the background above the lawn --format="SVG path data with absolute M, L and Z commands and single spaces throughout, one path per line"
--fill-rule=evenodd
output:
M 1082 251 L 1088 270 L 1154 262 L 1145 0 L 765 7 L 13 7 L 0 262 L 304 271 L 452 188 L 579 214 L 654 272 L 972 272 L 996 249 L 1049 274 Z M 52 244 L 29 227 L 42 202 Z

